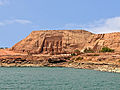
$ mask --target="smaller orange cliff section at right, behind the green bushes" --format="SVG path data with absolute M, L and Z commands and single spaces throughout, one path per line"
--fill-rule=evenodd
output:
M 91 48 L 94 51 L 99 51 L 103 47 L 109 47 L 115 51 L 120 51 L 120 32 L 95 34 L 87 41 L 85 48 Z

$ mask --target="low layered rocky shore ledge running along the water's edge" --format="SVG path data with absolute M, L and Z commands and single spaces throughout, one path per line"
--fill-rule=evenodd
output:
M 11 55 L 1 56 L 2 67 L 72 67 L 120 73 L 120 54 L 116 53 L 89 53 L 78 56 L 28 56 Z

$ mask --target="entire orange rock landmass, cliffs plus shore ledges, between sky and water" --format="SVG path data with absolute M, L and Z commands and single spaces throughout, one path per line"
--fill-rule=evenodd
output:
M 114 49 L 115 52 L 95 53 L 103 47 Z M 82 52 L 88 48 L 95 52 L 80 53 L 78 56 L 70 54 L 76 49 Z M 120 72 L 119 32 L 93 34 L 85 30 L 33 31 L 9 50 L 0 50 L 0 66 L 60 66 Z

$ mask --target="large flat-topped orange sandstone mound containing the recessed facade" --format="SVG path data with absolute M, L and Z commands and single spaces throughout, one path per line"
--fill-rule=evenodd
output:
M 84 30 L 44 30 L 33 31 L 28 37 L 15 44 L 11 49 L 16 52 L 34 54 L 59 54 L 82 50 L 91 38 L 91 32 Z

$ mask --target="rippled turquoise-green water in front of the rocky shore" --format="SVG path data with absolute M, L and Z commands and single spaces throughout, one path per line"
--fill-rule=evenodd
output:
M 0 67 L 0 90 L 120 90 L 120 74 L 56 67 Z

